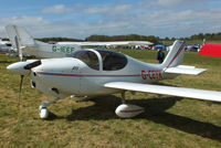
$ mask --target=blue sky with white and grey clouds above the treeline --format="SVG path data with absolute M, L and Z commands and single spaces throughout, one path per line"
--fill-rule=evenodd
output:
M 7 24 L 34 38 L 190 36 L 221 32 L 221 0 L 1 0 L 0 36 Z

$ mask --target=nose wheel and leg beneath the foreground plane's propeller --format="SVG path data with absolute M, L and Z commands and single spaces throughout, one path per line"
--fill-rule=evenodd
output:
M 55 102 L 57 102 L 61 98 L 54 98 L 53 101 L 48 101 L 44 102 L 40 105 L 39 109 L 40 109 L 40 118 L 48 118 L 49 117 L 49 109 L 46 108 L 48 105 L 50 104 L 54 104 Z

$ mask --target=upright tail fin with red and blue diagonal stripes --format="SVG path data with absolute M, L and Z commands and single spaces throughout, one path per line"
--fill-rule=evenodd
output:
M 161 65 L 164 67 L 178 66 L 182 64 L 183 55 L 185 55 L 185 41 L 176 40 Z

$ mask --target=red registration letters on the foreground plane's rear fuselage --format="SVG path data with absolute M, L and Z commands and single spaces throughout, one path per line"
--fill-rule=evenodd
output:
M 143 80 L 147 80 L 147 77 L 149 80 L 161 80 L 162 74 L 160 71 L 141 71 L 141 77 Z

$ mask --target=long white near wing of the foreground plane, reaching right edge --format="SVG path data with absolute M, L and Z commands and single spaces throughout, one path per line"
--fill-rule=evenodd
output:
M 162 94 L 162 95 L 172 95 L 172 96 L 221 102 L 221 92 L 217 92 L 217 91 L 181 88 L 181 87 L 173 87 L 173 86 L 138 84 L 138 83 L 130 83 L 130 82 L 110 82 L 110 83 L 106 83 L 104 86 L 109 87 L 109 88 L 117 88 L 117 89 L 127 89 L 127 91 L 146 92 L 146 93 L 155 93 L 155 94 Z

